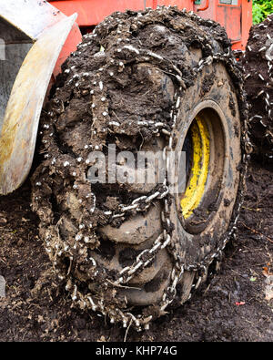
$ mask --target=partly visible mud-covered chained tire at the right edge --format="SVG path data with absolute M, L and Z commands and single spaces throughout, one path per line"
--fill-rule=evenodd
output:
M 273 15 L 252 26 L 249 33 L 245 67 L 245 87 L 251 105 L 250 138 L 254 154 L 273 160 Z

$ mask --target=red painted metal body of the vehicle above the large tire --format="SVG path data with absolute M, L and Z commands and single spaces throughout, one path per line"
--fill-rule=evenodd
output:
M 107 15 L 115 11 L 143 10 L 157 5 L 177 5 L 179 9 L 193 10 L 198 15 L 216 20 L 227 30 L 234 49 L 245 49 L 248 32 L 252 25 L 252 0 L 202 0 L 200 5 L 195 0 L 51 0 L 66 15 L 78 14 L 77 24 L 80 27 L 96 26 Z

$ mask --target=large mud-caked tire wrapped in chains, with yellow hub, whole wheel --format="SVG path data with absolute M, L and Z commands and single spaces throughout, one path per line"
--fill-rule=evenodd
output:
M 247 117 L 213 21 L 160 7 L 84 37 L 42 115 L 32 177 L 45 251 L 74 302 L 141 329 L 187 301 L 236 230 Z M 137 167 L 139 152 L 157 160 Z

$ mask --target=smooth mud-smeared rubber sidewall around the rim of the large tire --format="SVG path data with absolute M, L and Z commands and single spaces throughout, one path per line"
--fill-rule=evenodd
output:
M 205 77 L 214 78 L 206 94 L 202 87 Z M 230 104 L 233 104 L 233 107 Z M 238 166 L 241 161 L 238 100 L 226 68 L 218 63 L 205 67 L 197 75 L 195 85 L 187 88 L 181 98 L 177 126 L 172 134 L 176 139 L 177 152 L 181 151 L 193 119 L 201 109 L 207 107 L 217 111 L 221 119 L 225 139 L 224 171 L 218 196 L 220 199 L 217 199 L 217 211 L 213 211 L 213 216 L 203 231 L 194 234 L 185 229 L 179 195 L 174 194 L 170 218 L 175 224 L 174 239 L 178 240 L 186 263 L 202 261 L 208 252 L 218 246 L 220 239 L 227 232 L 238 193 L 240 178 Z M 217 146 L 217 139 L 215 146 Z M 217 161 L 217 159 L 214 160 Z M 179 169 L 178 160 L 174 164 L 174 169 Z

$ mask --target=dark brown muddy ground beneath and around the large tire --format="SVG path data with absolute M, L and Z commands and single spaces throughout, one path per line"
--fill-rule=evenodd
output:
M 0 341 L 273 341 L 273 169 L 252 163 L 238 237 L 225 251 L 219 273 L 191 300 L 136 333 L 104 317 L 71 307 L 55 280 L 30 210 L 30 184 L 0 199 Z M 41 280 L 42 279 L 42 280 Z M 50 279 L 50 278 L 49 278 Z M 39 284 L 44 287 L 39 290 Z

